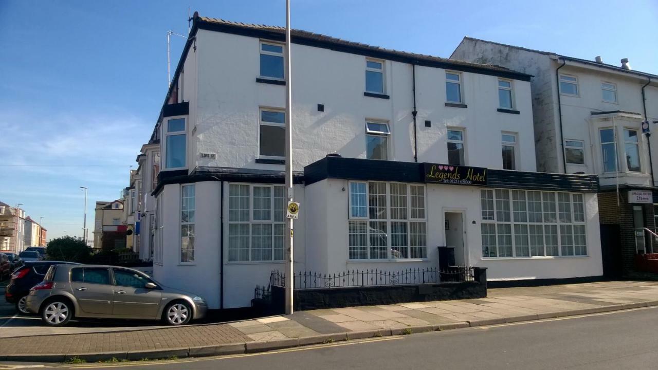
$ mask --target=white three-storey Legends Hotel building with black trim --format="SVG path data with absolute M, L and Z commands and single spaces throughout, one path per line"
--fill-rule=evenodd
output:
M 283 40 L 195 14 L 149 142 L 155 278 L 210 308 L 284 268 Z M 598 178 L 535 172 L 530 75 L 299 30 L 291 47 L 295 271 L 601 275 Z

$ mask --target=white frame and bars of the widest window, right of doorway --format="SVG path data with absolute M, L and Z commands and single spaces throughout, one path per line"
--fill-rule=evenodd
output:
M 493 220 L 483 219 L 482 218 L 482 211 L 483 211 L 483 209 L 482 209 L 482 193 L 480 193 L 480 224 L 496 225 L 496 226 L 494 226 L 495 232 L 496 232 L 496 234 L 495 234 L 496 257 L 485 257 L 484 256 L 484 251 L 482 251 L 482 245 L 484 244 L 484 242 L 482 242 L 482 231 L 481 231 L 482 229 L 480 228 L 480 238 L 481 238 L 480 242 L 482 242 L 482 244 L 480 244 L 480 246 L 481 246 L 481 248 L 480 248 L 480 253 L 481 254 L 480 255 L 482 256 L 482 257 L 480 257 L 481 259 L 552 259 L 552 258 L 583 258 L 583 257 L 589 257 L 590 256 L 589 252 L 590 252 L 590 247 L 591 246 L 588 242 L 588 233 L 587 233 L 587 231 L 588 231 L 587 230 L 588 213 L 587 213 L 587 207 L 586 207 L 587 202 L 586 202 L 586 197 L 585 197 L 584 193 L 545 192 L 545 191 L 540 191 L 540 190 L 517 190 L 517 189 L 499 189 L 499 188 L 482 188 L 482 190 L 493 190 L 493 192 L 492 192 L 492 194 L 493 194 Z M 497 220 L 497 218 L 498 218 L 498 215 L 497 215 L 497 213 L 498 213 L 497 201 L 499 199 L 496 197 L 496 194 L 495 194 L 496 190 L 502 190 L 502 191 L 508 192 L 510 221 L 498 221 Z M 512 192 L 515 191 L 515 190 L 525 193 L 525 202 L 526 202 L 526 207 L 525 207 L 525 209 L 526 209 L 525 210 L 526 221 L 525 222 L 516 221 L 515 217 L 514 217 L 514 200 L 513 200 L 514 197 L 513 197 Z M 541 223 L 530 222 L 530 211 L 529 211 L 530 208 L 528 207 L 528 192 L 540 192 L 540 194 L 541 194 L 541 198 L 542 198 L 541 199 L 541 205 L 542 205 L 542 222 Z M 558 200 L 559 199 L 559 197 L 558 197 L 559 193 L 568 194 L 569 205 L 570 205 L 569 212 L 570 212 L 570 220 L 571 220 L 568 223 L 564 223 L 564 222 L 560 221 L 559 200 Z M 545 217 L 545 212 L 547 212 L 547 209 L 545 209 L 545 207 L 544 207 L 544 203 L 545 203 L 544 196 L 545 196 L 545 194 L 549 194 L 549 197 L 552 195 L 552 198 L 553 198 L 552 204 L 555 206 L 555 209 L 554 209 L 554 211 L 555 211 L 555 222 L 553 222 L 553 223 L 547 222 L 546 219 L 544 218 Z M 582 197 L 583 221 L 575 221 L 576 212 L 575 212 L 575 207 L 574 207 L 574 204 L 575 204 L 574 199 L 576 198 L 576 196 L 581 196 Z M 512 241 L 512 255 L 511 256 L 498 257 L 499 253 L 498 253 L 498 228 L 497 228 L 497 225 L 510 225 L 511 238 L 512 238 L 511 239 L 511 241 Z M 516 234 L 515 234 L 515 226 L 514 225 L 528 225 L 527 226 L 527 230 L 528 230 L 527 245 L 528 245 L 528 254 L 529 254 L 529 256 L 517 256 L 517 244 L 516 244 Z M 530 244 L 530 235 L 531 235 L 530 225 L 541 225 L 542 226 L 542 240 L 543 240 L 543 244 L 544 244 L 544 255 L 532 255 L 532 248 L 533 247 Z M 573 248 L 573 251 L 574 251 L 574 254 L 572 254 L 572 255 L 563 254 L 562 234 L 561 234 L 561 227 L 560 226 L 564 226 L 564 225 L 570 225 L 571 226 L 572 248 Z M 557 237 L 557 255 L 547 255 L 547 250 L 546 250 L 546 248 L 547 248 L 547 244 L 546 244 L 547 234 L 545 232 L 546 226 L 555 226 L 555 229 L 556 229 L 555 236 Z M 585 230 L 585 248 L 586 248 L 586 254 L 584 254 L 584 255 L 576 255 L 575 254 L 576 253 L 576 251 L 575 251 L 576 246 L 575 246 L 575 239 L 574 239 L 574 226 L 583 226 L 584 227 L 584 230 Z

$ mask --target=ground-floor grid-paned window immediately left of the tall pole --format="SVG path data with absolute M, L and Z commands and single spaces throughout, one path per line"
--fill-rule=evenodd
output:
M 283 261 L 284 186 L 229 184 L 228 261 Z

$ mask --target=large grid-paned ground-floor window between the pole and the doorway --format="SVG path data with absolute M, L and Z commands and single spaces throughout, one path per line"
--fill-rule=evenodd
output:
M 349 259 L 425 259 L 425 187 L 349 182 Z

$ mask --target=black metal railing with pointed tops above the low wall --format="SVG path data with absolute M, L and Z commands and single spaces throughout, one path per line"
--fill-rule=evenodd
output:
M 293 273 L 295 289 L 395 286 L 473 280 L 473 268 L 465 266 L 451 266 L 445 269 L 430 267 L 403 271 L 351 270 L 334 274 L 320 274 L 313 271 Z M 286 286 L 286 275 L 280 271 L 272 271 L 270 286 Z

